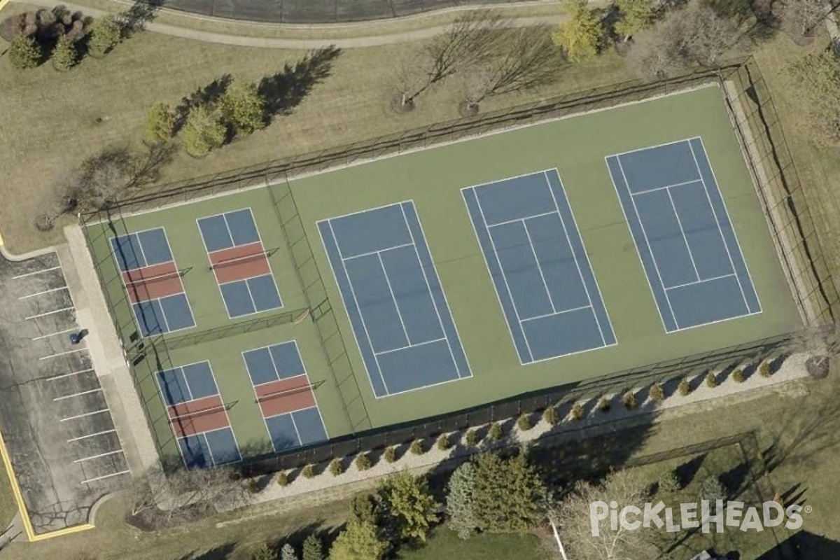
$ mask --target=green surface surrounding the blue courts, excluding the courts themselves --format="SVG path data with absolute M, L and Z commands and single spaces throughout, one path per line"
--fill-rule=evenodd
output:
M 761 312 L 666 333 L 605 158 L 694 137 L 700 137 L 705 145 Z M 461 189 L 554 168 L 562 178 L 617 343 L 522 365 Z M 269 188 L 274 191 L 268 191 Z M 415 421 L 529 391 L 769 338 L 791 332 L 800 324 L 717 86 L 353 165 L 300 178 L 288 185 L 255 187 L 123 216 L 111 224 L 89 225 L 92 251 L 100 263 L 107 296 L 117 316 L 115 320 L 122 326 L 127 348 L 134 348 L 139 335 L 108 246 L 108 237 L 115 233 L 165 228 L 177 268 L 183 272 L 181 280 L 196 323 L 196 327 L 164 335 L 165 341 L 183 340 L 231 323 L 246 325 L 260 317 L 278 317 L 282 324 L 205 342 L 177 343 L 175 346 L 180 348 L 160 356 L 163 369 L 210 361 L 228 409 L 230 426 L 246 456 L 271 450 L 241 355 L 250 348 L 296 340 L 309 380 L 316 387 L 313 392 L 328 437 L 353 431 L 353 421 L 345 412 L 346 403 L 328 368 L 316 327 L 308 317 L 299 322 L 281 317 L 300 317 L 301 310 L 307 307 L 307 297 L 273 207 L 278 192 L 289 188 L 314 264 L 335 310 L 370 427 Z M 413 201 L 416 207 L 471 376 L 376 398 L 318 222 L 402 201 Z M 229 319 L 213 270 L 208 267 L 196 220 L 245 207 L 251 208 L 268 250 L 283 307 Z M 147 356 L 134 371 L 155 436 L 165 454 L 177 457 L 178 447 L 166 419 L 165 405 L 150 373 L 154 369 L 155 358 Z M 345 398 L 347 394 L 344 391 Z

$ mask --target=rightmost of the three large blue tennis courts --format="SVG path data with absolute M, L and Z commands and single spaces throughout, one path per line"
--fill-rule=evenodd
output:
M 761 312 L 700 138 L 606 165 L 666 332 Z

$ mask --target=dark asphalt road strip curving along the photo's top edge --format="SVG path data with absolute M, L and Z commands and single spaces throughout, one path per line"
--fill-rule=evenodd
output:
M 402 18 L 446 8 L 516 4 L 527 0 L 169 0 L 166 8 L 216 18 L 272 24 L 334 24 Z

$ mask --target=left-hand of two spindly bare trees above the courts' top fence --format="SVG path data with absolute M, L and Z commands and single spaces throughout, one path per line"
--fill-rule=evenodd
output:
M 456 72 L 487 60 L 496 52 L 499 29 L 508 23 L 491 12 L 470 12 L 458 18 L 443 34 L 435 37 L 412 57 L 417 70 L 400 60 L 394 71 L 396 105 L 401 110 L 414 107 L 417 97 Z M 408 59 L 411 60 L 411 59 Z

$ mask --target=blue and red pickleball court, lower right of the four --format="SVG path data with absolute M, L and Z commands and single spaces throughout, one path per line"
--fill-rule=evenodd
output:
M 242 353 L 276 453 L 328 439 L 297 343 Z

